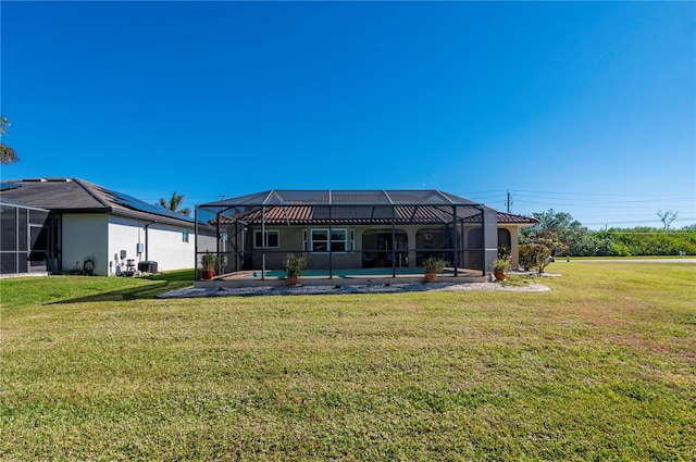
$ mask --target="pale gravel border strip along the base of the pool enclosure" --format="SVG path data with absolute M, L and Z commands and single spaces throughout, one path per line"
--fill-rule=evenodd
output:
M 345 295 L 345 294 L 397 294 L 422 291 L 463 292 L 471 290 L 497 290 L 506 292 L 545 292 L 550 288 L 531 283 L 524 286 L 506 286 L 501 283 L 435 283 L 435 284 L 373 284 L 337 286 L 291 286 L 291 287 L 239 287 L 239 288 L 195 288 L 188 287 L 160 294 L 158 298 L 198 298 L 198 297 L 252 297 L 252 296 L 299 296 L 299 295 Z

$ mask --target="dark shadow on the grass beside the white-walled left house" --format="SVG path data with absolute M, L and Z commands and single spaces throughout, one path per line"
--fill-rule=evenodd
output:
M 69 300 L 60 300 L 54 303 L 83 303 L 92 301 L 124 301 L 124 300 L 151 300 L 160 294 L 170 290 L 182 289 L 194 285 L 194 270 L 172 271 L 154 276 L 138 277 L 139 280 L 152 282 L 152 284 L 128 287 L 102 294 L 94 294 Z M 53 304 L 53 303 L 51 303 Z

